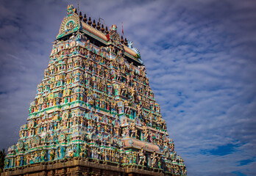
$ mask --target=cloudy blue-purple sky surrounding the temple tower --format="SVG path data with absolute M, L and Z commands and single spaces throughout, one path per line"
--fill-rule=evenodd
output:
M 0 148 L 18 140 L 67 4 L 0 1 Z M 188 175 L 256 175 L 256 1 L 79 1 L 141 51 Z

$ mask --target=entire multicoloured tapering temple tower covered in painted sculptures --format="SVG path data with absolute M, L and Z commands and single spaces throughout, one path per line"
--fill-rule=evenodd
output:
M 68 5 L 5 175 L 186 175 L 141 54 Z

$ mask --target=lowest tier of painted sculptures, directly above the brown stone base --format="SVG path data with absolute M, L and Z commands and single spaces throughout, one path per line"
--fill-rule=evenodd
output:
M 94 141 L 95 142 L 95 141 Z M 24 145 L 24 144 L 23 144 Z M 25 150 L 19 147 L 12 150 L 11 157 L 5 160 L 5 169 L 26 166 L 46 161 L 57 161 L 65 158 L 81 157 L 95 162 L 112 162 L 121 166 L 145 166 L 149 168 L 163 169 L 166 172 L 185 175 L 186 169 L 183 160 L 174 153 L 173 158 L 166 160 L 165 156 L 140 150 L 124 150 L 124 148 L 106 147 L 96 143 L 90 144 L 59 144 L 57 147 L 47 149 L 38 147 L 38 150 Z M 106 164 L 106 163 L 104 163 Z M 176 172 L 175 172 L 176 171 Z

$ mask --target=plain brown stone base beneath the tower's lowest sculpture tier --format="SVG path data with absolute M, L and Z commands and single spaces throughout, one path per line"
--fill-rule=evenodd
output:
M 161 169 L 146 169 L 143 166 L 118 166 L 114 163 L 102 163 L 101 161 L 88 161 L 84 158 L 69 158 L 62 161 L 49 161 L 40 164 L 4 169 L 1 176 L 163 176 Z

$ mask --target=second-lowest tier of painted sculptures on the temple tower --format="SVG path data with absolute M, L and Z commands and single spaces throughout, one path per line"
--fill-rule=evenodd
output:
M 97 132 L 107 133 L 112 136 L 118 136 L 122 138 L 131 137 L 139 139 L 145 142 L 151 142 L 157 144 L 160 148 L 168 146 L 171 152 L 174 152 L 174 144 L 170 146 L 168 142 L 162 140 L 166 133 L 163 131 L 153 131 L 154 128 L 150 128 L 147 125 L 141 125 L 141 120 L 135 119 L 135 122 L 127 123 L 125 120 L 120 122 L 118 117 L 91 117 L 92 113 L 84 113 L 81 110 L 75 110 L 71 113 L 64 111 L 62 117 L 60 113 L 55 113 L 54 117 L 47 115 L 47 117 L 40 117 L 40 120 L 30 120 L 29 125 L 25 124 L 21 127 L 20 137 L 26 139 L 28 137 L 36 136 L 41 133 L 63 131 L 72 127 L 81 127 L 90 132 L 91 129 Z M 94 114 L 95 116 L 95 114 Z M 96 115 L 98 116 L 98 115 Z M 57 117 L 57 118 L 56 118 Z M 58 118 L 60 117 L 60 118 Z

